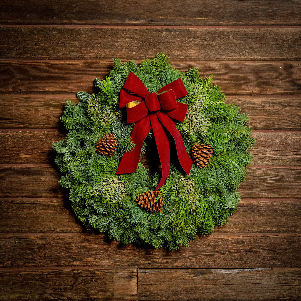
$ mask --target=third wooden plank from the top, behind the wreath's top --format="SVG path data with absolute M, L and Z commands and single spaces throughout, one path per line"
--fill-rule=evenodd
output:
M 301 93 L 300 61 L 175 60 L 173 67 L 182 72 L 197 67 L 201 77 L 213 74 L 213 83 L 228 95 Z M 141 58 L 136 62 L 140 63 Z M 21 89 L 22 93 L 90 93 L 94 91 L 94 79 L 105 78 L 111 68 L 111 60 L 2 60 L 0 92 L 20 94 Z

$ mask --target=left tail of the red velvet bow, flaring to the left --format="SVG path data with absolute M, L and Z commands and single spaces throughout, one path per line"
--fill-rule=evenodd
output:
M 125 152 L 123 154 L 118 169 L 116 171 L 116 175 L 136 171 L 140 160 L 143 141 L 150 130 L 151 130 L 151 123 L 150 123 L 149 116 L 146 116 L 135 123 L 131 135 L 131 139 L 135 143 L 135 147 L 132 151 Z

